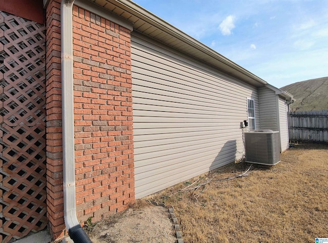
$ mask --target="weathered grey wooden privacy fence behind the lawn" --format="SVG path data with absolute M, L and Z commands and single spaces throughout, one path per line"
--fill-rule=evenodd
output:
M 328 110 L 288 113 L 291 141 L 328 144 Z

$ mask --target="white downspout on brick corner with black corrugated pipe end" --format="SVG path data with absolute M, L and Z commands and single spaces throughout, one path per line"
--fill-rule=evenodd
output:
M 73 3 L 74 0 L 62 0 L 60 5 L 64 219 L 68 234 L 75 243 L 92 243 L 76 217 L 72 35 Z

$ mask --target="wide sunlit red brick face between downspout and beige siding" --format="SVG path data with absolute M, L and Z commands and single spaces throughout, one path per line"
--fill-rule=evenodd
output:
M 130 31 L 73 7 L 76 204 L 98 221 L 134 200 Z

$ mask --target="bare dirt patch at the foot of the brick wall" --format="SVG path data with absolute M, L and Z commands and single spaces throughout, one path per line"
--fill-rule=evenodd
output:
M 174 243 L 168 209 L 138 200 L 124 212 L 98 222 L 92 229 L 93 243 Z

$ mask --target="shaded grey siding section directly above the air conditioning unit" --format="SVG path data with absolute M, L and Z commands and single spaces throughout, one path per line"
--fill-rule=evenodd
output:
M 275 91 L 261 87 L 258 89 L 260 104 L 260 128 L 279 131 L 278 112 L 277 112 L 277 95 Z

